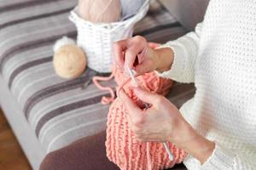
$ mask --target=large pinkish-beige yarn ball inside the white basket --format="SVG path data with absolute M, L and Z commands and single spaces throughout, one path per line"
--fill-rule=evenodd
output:
M 110 23 L 120 20 L 119 0 L 79 0 L 79 15 L 91 22 Z

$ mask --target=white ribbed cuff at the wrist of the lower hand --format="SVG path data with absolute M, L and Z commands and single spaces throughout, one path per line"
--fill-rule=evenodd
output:
M 207 161 L 201 166 L 201 170 L 229 170 L 233 167 L 234 159 L 234 153 L 216 144 L 215 149 L 212 152 L 212 156 L 210 156 Z

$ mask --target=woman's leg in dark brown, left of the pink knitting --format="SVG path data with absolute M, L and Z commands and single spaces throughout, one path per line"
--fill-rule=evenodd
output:
M 106 156 L 106 132 L 79 139 L 60 150 L 49 153 L 40 170 L 118 170 Z

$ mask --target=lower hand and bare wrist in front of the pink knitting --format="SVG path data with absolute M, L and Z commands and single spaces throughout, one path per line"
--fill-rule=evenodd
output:
M 119 98 L 128 111 L 129 125 L 139 141 L 171 141 L 201 163 L 212 155 L 215 144 L 196 133 L 168 99 L 141 88 L 134 88 L 134 92 L 138 99 L 152 105 L 149 109 L 142 110 L 124 90 L 119 91 Z

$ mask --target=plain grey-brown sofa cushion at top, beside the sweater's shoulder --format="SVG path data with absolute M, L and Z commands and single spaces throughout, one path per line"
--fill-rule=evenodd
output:
M 203 20 L 209 0 L 160 0 L 160 2 L 186 29 L 192 31 L 196 24 Z

